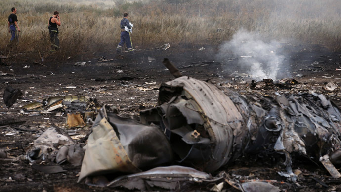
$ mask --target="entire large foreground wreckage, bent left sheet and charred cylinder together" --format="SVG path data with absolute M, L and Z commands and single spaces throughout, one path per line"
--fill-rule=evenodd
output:
M 89 185 L 145 190 L 141 179 L 161 187 L 180 176 L 208 180 L 200 171 L 214 172 L 242 156 L 273 152 L 285 158 L 284 174 L 293 183 L 293 153 L 320 161 L 333 177 L 340 177 L 333 166 L 341 163 L 340 110 L 324 95 L 239 95 L 165 65 L 177 78 L 161 85 L 158 106 L 141 111 L 140 122 L 105 107 L 99 110 L 79 182 L 87 178 Z M 187 167 L 162 167 L 174 164 Z M 108 179 L 127 174 L 132 175 Z M 130 186 L 129 178 L 135 181 Z

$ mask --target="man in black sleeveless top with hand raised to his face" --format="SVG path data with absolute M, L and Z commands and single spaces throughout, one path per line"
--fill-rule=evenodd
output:
M 59 37 L 58 37 L 58 26 L 61 24 L 61 19 L 59 17 L 59 12 L 54 11 L 53 16 L 48 20 L 48 31 L 50 32 L 51 41 L 51 52 L 59 50 Z

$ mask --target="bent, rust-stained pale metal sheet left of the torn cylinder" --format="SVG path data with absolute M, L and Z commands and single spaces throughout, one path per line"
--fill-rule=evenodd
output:
M 109 172 L 137 173 L 172 158 L 171 145 L 158 127 L 107 113 L 103 106 L 89 135 L 78 181 Z

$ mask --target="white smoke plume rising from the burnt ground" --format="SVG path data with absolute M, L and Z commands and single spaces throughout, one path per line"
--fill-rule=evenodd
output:
M 220 46 L 217 57 L 219 59 L 237 57 L 238 67 L 247 70 L 239 72 L 247 72 L 256 80 L 276 79 L 285 58 L 279 52 L 279 42 L 273 40 L 265 43 L 259 34 L 239 30 L 231 41 Z

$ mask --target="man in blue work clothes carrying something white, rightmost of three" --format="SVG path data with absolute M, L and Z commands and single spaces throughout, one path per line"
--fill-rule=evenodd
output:
M 121 20 L 120 27 L 121 27 L 121 41 L 116 48 L 116 52 L 120 53 L 122 51 L 122 46 L 124 43 L 126 43 L 126 46 L 129 52 L 134 51 L 134 49 L 132 48 L 130 32 L 128 32 L 132 30 L 129 20 L 128 20 L 128 13 L 123 14 L 123 19 Z M 125 28 L 127 31 L 125 30 Z

